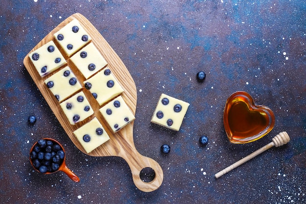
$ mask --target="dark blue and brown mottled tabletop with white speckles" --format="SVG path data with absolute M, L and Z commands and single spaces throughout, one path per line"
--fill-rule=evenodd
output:
M 135 81 L 134 143 L 164 171 L 156 191 L 138 190 L 123 159 L 81 153 L 23 66 L 26 54 L 77 12 Z M 305 0 L 1 1 L 0 203 L 305 203 L 305 44 Z M 196 80 L 199 70 L 207 74 L 204 83 Z M 228 141 L 223 109 L 235 91 L 273 110 L 275 127 L 267 136 L 243 145 Z M 150 123 L 161 93 L 190 103 L 177 133 Z M 38 117 L 34 126 L 27 124 L 30 114 Z M 287 145 L 214 178 L 282 131 L 291 137 Z M 198 144 L 202 135 L 209 137 L 206 147 Z M 28 154 L 41 137 L 65 146 L 79 183 L 33 171 Z M 171 146 L 167 156 L 159 150 L 163 143 Z

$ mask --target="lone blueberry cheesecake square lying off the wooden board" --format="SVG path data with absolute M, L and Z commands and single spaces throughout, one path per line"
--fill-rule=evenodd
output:
M 151 122 L 179 131 L 188 107 L 189 103 L 162 93 Z

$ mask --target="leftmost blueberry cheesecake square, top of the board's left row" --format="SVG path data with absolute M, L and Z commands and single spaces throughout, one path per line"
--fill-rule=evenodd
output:
M 29 58 L 41 76 L 45 76 L 67 63 L 53 41 L 31 52 Z

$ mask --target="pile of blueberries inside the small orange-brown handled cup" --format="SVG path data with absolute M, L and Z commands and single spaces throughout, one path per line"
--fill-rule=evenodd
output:
M 35 169 L 41 173 L 55 172 L 64 161 L 62 147 L 51 140 L 40 139 L 30 152 L 30 159 Z

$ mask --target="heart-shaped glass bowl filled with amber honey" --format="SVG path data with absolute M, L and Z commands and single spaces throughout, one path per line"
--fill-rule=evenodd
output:
M 233 93 L 226 101 L 224 129 L 230 142 L 243 144 L 268 134 L 274 127 L 274 113 L 266 106 L 254 103 L 245 91 Z

